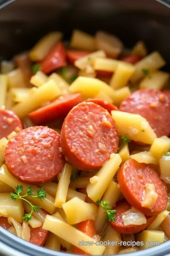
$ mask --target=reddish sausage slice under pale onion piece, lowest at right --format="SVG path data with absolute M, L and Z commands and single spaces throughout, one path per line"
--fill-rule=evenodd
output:
M 147 219 L 146 224 L 125 226 L 122 219 L 122 213 L 130 209 L 131 205 L 125 199 L 119 201 L 115 208 L 116 220 L 115 222 L 110 221 L 110 225 L 113 227 L 113 229 L 121 234 L 136 234 L 138 232 L 141 232 L 142 230 L 147 229 L 156 218 L 156 216 L 145 216 Z

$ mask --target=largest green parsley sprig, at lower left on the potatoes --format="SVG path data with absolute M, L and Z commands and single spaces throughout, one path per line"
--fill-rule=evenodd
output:
M 47 193 L 41 188 L 41 189 L 38 189 L 37 190 L 37 194 L 36 195 L 33 195 L 33 187 L 32 186 L 29 186 L 27 192 L 25 195 L 20 195 L 21 192 L 23 192 L 24 190 L 24 187 L 22 185 L 17 185 L 16 189 L 15 189 L 15 193 L 10 193 L 10 196 L 11 196 L 11 199 L 12 200 L 16 200 L 16 199 L 22 199 L 24 201 L 26 201 L 30 206 L 31 206 L 31 212 L 30 213 L 27 213 L 24 215 L 23 219 L 27 222 L 29 220 L 31 220 L 31 217 L 32 217 L 32 214 L 33 214 L 33 211 L 34 212 L 38 212 L 40 210 L 40 206 L 34 206 L 30 201 L 26 200 L 26 196 L 29 196 L 29 197 L 34 197 L 34 198 L 38 198 L 40 199 L 41 201 L 43 199 L 45 199 L 47 197 Z

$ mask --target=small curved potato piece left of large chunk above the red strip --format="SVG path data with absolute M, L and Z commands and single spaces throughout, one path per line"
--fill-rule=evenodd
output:
M 51 81 L 53 80 L 56 85 L 59 87 L 60 91 L 61 91 L 61 95 L 66 95 L 69 93 L 69 84 L 68 82 L 66 82 L 59 74 L 56 73 L 52 73 L 47 81 Z

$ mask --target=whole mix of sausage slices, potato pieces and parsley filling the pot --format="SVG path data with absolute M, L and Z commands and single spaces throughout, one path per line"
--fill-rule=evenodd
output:
M 102 31 L 62 38 L 51 32 L 1 62 L 0 226 L 81 255 L 169 240 L 165 60 Z

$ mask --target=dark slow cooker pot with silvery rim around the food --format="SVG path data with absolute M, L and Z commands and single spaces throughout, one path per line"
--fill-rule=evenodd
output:
M 167 61 L 165 69 L 170 72 L 169 4 L 170 0 L 0 0 L 0 59 L 10 59 L 29 49 L 52 30 L 63 31 L 67 40 L 73 28 L 91 34 L 100 29 L 117 35 L 127 48 L 144 40 L 148 51 L 161 53 Z M 168 253 L 170 241 L 134 252 L 133 256 Z M 35 246 L 0 228 L 0 255 L 63 256 L 63 253 Z

